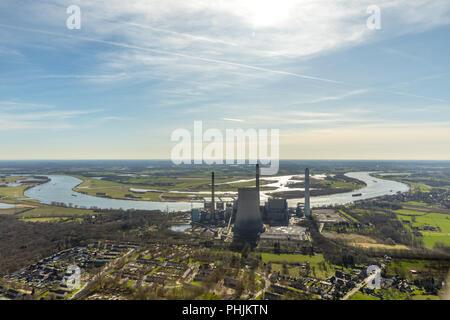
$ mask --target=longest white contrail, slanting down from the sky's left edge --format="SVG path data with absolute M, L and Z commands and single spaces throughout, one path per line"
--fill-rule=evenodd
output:
M 235 67 L 240 67 L 240 68 L 246 68 L 246 69 L 250 69 L 250 70 L 263 71 L 263 72 L 268 72 L 268 73 L 273 73 L 273 74 L 292 76 L 292 77 L 301 78 L 301 79 L 307 79 L 307 80 L 315 80 L 315 81 L 322 81 L 322 82 L 335 83 L 335 84 L 344 84 L 344 83 L 339 82 L 339 81 L 325 79 L 325 78 L 307 76 L 307 75 L 293 73 L 293 72 L 287 72 L 287 71 L 273 70 L 273 69 L 268 69 L 268 68 L 263 68 L 263 67 L 256 67 L 256 66 L 252 66 L 252 65 L 248 65 L 248 64 L 236 63 L 236 62 L 219 60 L 219 59 L 197 57 L 197 56 L 192 56 L 192 55 L 183 54 L 183 53 L 177 53 L 177 52 L 145 48 L 145 47 L 141 47 L 141 46 L 126 44 L 126 43 L 121 43 L 121 42 L 115 42 L 115 41 L 100 40 L 100 39 L 94 39 L 94 38 L 88 38 L 88 37 L 82 37 L 82 36 L 73 36 L 73 35 L 67 35 L 67 34 L 63 34 L 63 33 L 53 32 L 53 31 L 45 31 L 45 30 L 39 30 L 39 29 L 23 28 L 23 27 L 11 26 L 11 25 L 6 25 L 6 24 L 0 24 L 0 27 L 4 27 L 4 28 L 8 28 L 8 29 L 21 30 L 21 31 L 27 31 L 27 32 L 47 34 L 47 35 L 58 36 L 58 37 L 68 37 L 68 38 L 82 40 L 82 41 L 97 42 L 97 43 L 107 44 L 107 45 L 115 46 L 115 47 L 121 47 L 121 48 L 127 48 L 127 49 L 135 49 L 135 50 L 153 52 L 153 53 L 158 53 L 158 54 L 163 54 L 163 55 L 164 54 L 165 55 L 171 55 L 171 56 L 176 56 L 176 57 L 194 59 L 194 60 L 203 61 L 203 62 L 211 62 L 211 63 L 235 66 Z

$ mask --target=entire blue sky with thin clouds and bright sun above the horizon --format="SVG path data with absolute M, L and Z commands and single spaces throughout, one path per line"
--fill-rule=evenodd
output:
M 282 159 L 450 160 L 449 51 L 447 0 L 2 0 L 0 160 L 168 159 L 194 121 L 279 129 Z

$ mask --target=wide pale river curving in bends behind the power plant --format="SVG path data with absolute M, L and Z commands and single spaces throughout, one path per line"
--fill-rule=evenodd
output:
M 347 204 L 355 200 L 370 199 L 409 190 L 409 187 L 403 183 L 371 177 L 370 172 L 350 172 L 346 175 L 364 181 L 367 186 L 354 192 L 311 197 L 311 206 Z M 48 177 L 51 179 L 50 182 L 26 190 L 25 196 L 45 204 L 60 202 L 82 208 L 188 211 L 191 208 L 203 207 L 203 203 L 199 202 L 152 202 L 94 197 L 72 190 L 72 188 L 82 182 L 78 178 L 60 175 L 50 175 Z M 286 183 L 288 181 L 285 177 L 282 177 L 281 180 L 286 181 Z M 354 193 L 361 193 L 362 196 L 353 197 L 352 194 Z M 298 202 L 303 201 L 304 199 L 289 199 L 288 203 L 289 206 L 296 207 Z

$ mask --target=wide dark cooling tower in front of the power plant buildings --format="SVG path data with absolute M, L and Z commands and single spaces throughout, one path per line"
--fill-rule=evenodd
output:
M 238 189 L 238 209 L 234 224 L 234 233 L 237 236 L 253 238 L 262 232 L 263 224 L 258 199 L 256 188 Z

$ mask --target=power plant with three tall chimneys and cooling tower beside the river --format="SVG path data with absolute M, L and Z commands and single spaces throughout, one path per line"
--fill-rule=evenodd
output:
M 216 202 L 215 176 L 211 174 L 211 202 L 203 209 L 191 210 L 192 229 L 204 227 L 225 241 L 257 243 L 259 240 L 309 239 L 306 230 L 293 225 L 299 219 L 310 219 L 309 168 L 305 170 L 305 202 L 289 208 L 284 198 L 271 197 L 261 203 L 260 168 L 256 165 L 255 187 L 238 189 L 237 199 Z

